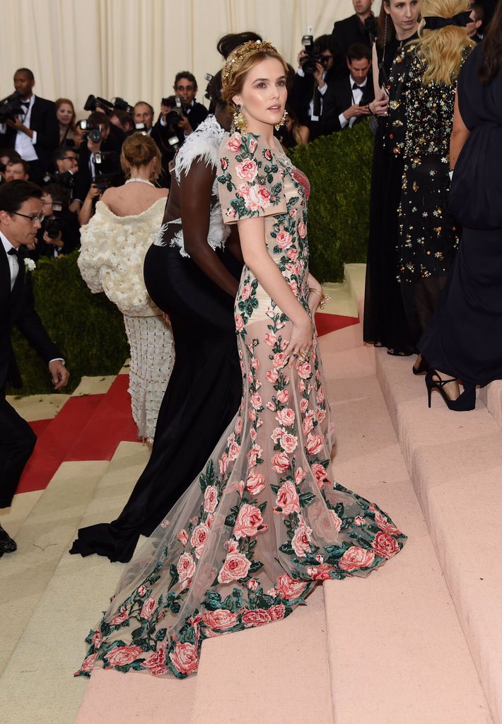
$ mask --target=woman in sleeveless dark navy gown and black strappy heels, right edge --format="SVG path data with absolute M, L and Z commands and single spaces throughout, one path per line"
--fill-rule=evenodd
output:
M 484 43 L 459 77 L 450 208 L 464 232 L 440 305 L 419 342 L 430 363 L 429 392 L 437 387 L 457 411 L 474 408 L 477 384 L 502 379 L 501 49 L 499 2 Z M 458 379 L 464 383 L 461 395 Z

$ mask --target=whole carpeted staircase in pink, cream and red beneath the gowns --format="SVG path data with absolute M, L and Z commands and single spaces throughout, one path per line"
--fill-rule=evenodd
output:
M 6 724 L 502 724 L 502 385 L 482 392 L 488 408 L 451 413 L 434 395 L 428 410 L 413 358 L 365 348 L 348 319 L 364 266 L 331 286 L 318 327 L 336 477 L 389 511 L 403 552 L 365 580 L 318 586 L 284 621 L 206 641 L 194 678 L 72 678 L 122 566 L 67 550 L 78 527 L 120 512 L 148 459 L 131 442 L 126 376 L 84 381 L 41 425 L 48 462 L 0 517 L 19 547 L 0 560 Z M 76 424 L 65 408 L 79 400 Z M 36 473 L 58 456 L 41 490 Z

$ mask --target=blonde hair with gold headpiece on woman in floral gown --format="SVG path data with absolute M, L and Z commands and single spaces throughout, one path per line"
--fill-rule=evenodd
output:
M 283 64 L 284 75 L 288 76 L 288 65 L 285 59 L 267 41 L 248 41 L 237 46 L 227 57 L 227 62 L 222 70 L 222 98 L 230 113 L 237 111 L 237 106 L 232 98 L 238 96 L 242 90 L 248 72 L 267 58 L 277 58 Z

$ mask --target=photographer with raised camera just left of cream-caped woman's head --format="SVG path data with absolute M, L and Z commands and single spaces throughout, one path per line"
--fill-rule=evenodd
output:
M 110 134 L 110 119 L 101 111 L 93 111 L 86 121 L 79 121 L 85 140 L 78 149 L 78 176 L 73 198 L 85 201 L 91 184 L 101 190 L 122 183 L 120 169 L 121 143 Z

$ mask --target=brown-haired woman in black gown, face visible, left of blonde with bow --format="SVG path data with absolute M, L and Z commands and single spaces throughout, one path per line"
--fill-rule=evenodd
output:
M 419 0 L 383 0 L 378 19 L 379 40 L 373 48 L 375 101 L 369 110 L 378 117 L 369 206 L 369 244 L 364 292 L 364 341 L 388 348 L 390 354 L 411 354 L 414 345 L 397 279 L 398 206 L 403 176 L 404 126 L 403 49 L 417 37 Z

